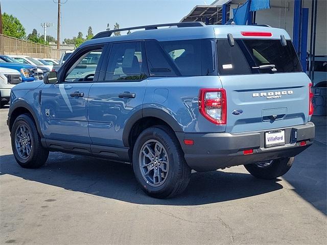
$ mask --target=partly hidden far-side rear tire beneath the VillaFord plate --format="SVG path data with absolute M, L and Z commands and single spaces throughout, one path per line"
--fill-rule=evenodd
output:
M 270 164 L 253 163 L 244 165 L 244 167 L 256 178 L 271 180 L 285 175 L 290 170 L 293 162 L 294 157 L 279 158 L 272 160 Z

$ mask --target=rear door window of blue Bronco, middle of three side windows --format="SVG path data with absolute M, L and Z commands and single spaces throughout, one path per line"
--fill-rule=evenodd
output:
M 131 81 L 146 78 L 140 42 L 114 43 L 106 70 L 106 81 Z

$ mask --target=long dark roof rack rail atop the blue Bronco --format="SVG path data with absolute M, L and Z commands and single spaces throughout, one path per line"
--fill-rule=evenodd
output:
M 196 21 L 196 22 L 178 22 L 178 23 L 151 24 L 150 26 L 122 28 L 122 29 L 99 32 L 92 39 L 97 39 L 97 38 L 102 38 L 102 37 L 110 37 L 111 34 L 114 33 L 114 32 L 122 32 L 122 31 L 137 30 L 137 29 L 155 30 L 155 29 L 158 29 L 158 27 L 173 27 L 173 26 L 176 26 L 178 28 L 180 28 L 180 27 L 204 27 L 205 23 L 200 22 L 200 21 Z

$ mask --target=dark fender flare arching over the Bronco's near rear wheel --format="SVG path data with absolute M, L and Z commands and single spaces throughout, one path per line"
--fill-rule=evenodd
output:
M 173 130 L 174 132 L 183 132 L 181 126 L 178 124 L 176 119 L 174 119 L 170 114 L 167 112 L 156 109 L 156 108 L 144 108 L 142 110 L 138 110 L 135 112 L 126 122 L 123 132 L 123 143 L 125 147 L 129 147 L 129 134 L 135 124 L 136 121 L 142 119 L 143 117 L 156 117 L 165 121 Z

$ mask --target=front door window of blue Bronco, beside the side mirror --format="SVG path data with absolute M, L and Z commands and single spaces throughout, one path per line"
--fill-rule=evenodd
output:
M 82 55 L 72 67 L 68 69 L 65 82 L 93 81 L 101 54 L 102 48 L 99 48 Z

